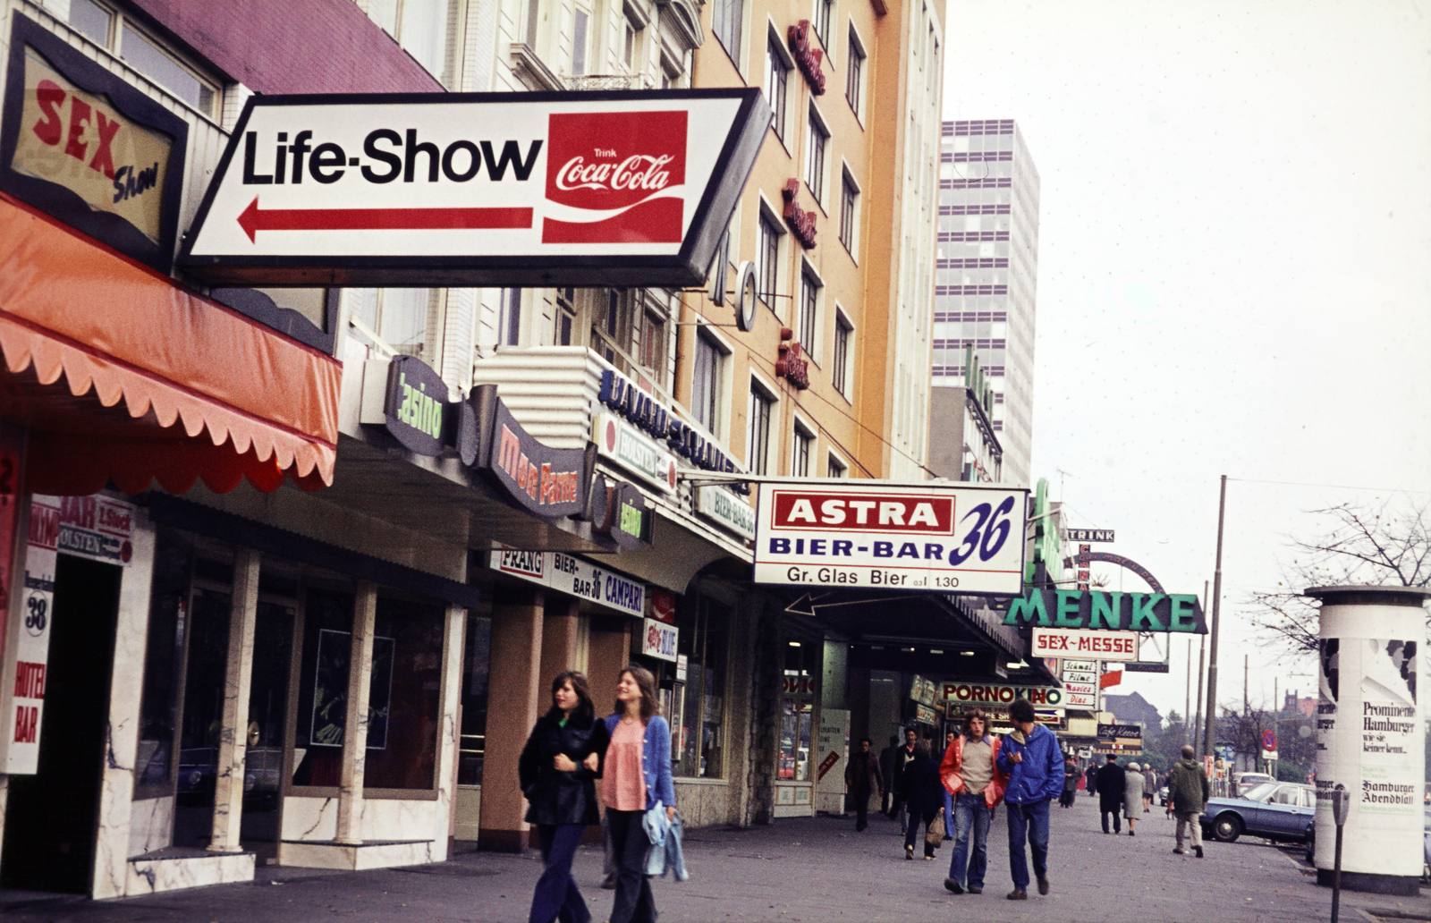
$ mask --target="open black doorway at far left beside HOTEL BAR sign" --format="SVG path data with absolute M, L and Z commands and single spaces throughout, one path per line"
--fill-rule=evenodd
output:
M 90 890 L 120 574 L 99 561 L 56 561 L 39 771 L 10 777 L 4 887 Z

